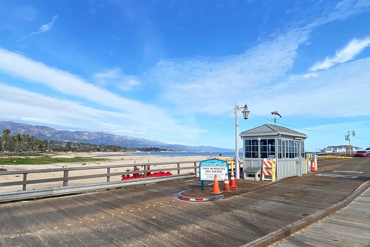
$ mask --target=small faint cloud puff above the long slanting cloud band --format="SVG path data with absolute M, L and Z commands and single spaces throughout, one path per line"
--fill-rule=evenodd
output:
M 120 68 L 107 69 L 94 74 L 93 78 L 99 85 L 114 85 L 121 91 L 131 91 L 140 84 L 137 77 L 123 74 Z

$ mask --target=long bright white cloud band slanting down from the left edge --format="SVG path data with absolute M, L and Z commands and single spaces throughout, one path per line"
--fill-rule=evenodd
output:
M 112 118 L 120 119 L 117 122 L 117 129 L 122 129 L 120 126 L 122 123 L 129 123 L 132 128 L 140 126 L 140 129 L 134 131 L 148 132 L 147 129 L 151 129 L 152 134 L 172 134 L 173 138 L 178 133 L 181 133 L 186 138 L 187 136 L 197 136 L 202 132 L 197 127 L 179 124 L 181 123 L 181 118 L 174 119 L 154 105 L 124 98 L 106 89 L 87 83 L 76 75 L 35 62 L 4 49 L 0 49 L 0 71 L 14 77 L 23 78 L 25 81 L 45 85 L 56 92 L 108 107 L 113 112 L 119 112 L 125 116 L 125 119 L 117 118 L 117 115 Z M 107 73 L 103 77 L 109 77 L 109 75 L 114 76 L 114 73 Z M 24 99 L 24 102 L 28 101 L 28 99 Z M 86 104 L 89 104 L 89 102 L 86 102 Z M 24 106 L 23 109 L 27 109 L 27 107 Z M 145 114 L 142 114 L 142 112 L 145 112 Z M 35 111 L 35 114 L 40 115 L 41 112 Z M 103 116 L 106 116 L 106 114 Z M 104 120 L 103 122 L 109 123 L 112 121 L 114 120 Z M 88 126 L 89 124 L 86 125 Z M 132 130 L 130 128 L 127 129 Z

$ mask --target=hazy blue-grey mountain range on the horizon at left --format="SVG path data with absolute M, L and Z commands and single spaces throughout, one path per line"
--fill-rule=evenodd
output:
M 29 134 L 38 139 L 66 140 L 74 143 L 116 145 L 126 148 L 156 147 L 176 151 L 234 152 L 232 149 L 221 149 L 208 146 L 191 147 L 176 144 L 170 145 L 156 140 L 147 140 L 126 135 L 114 135 L 104 132 L 56 130 L 47 126 L 32 126 L 11 121 L 0 121 L 0 133 L 2 134 L 5 129 L 9 129 L 11 135 Z

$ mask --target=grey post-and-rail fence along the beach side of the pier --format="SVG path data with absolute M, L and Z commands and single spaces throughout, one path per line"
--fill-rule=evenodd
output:
M 103 178 L 106 177 L 106 182 L 110 182 L 110 177 L 114 176 L 122 176 L 126 174 L 135 174 L 135 173 L 143 173 L 144 178 L 146 177 L 147 172 L 158 172 L 162 171 L 163 169 L 147 169 L 147 166 L 161 166 L 161 165 L 175 165 L 176 167 L 172 168 L 165 168 L 167 171 L 177 171 L 177 174 L 181 174 L 181 170 L 189 170 L 194 169 L 194 174 L 197 174 L 197 169 L 199 168 L 200 161 L 179 161 L 179 162 L 159 162 L 159 163 L 137 163 L 137 164 L 125 164 L 125 165 L 101 165 L 101 166 L 80 166 L 80 167 L 65 167 L 65 168 L 50 168 L 50 169 L 35 169 L 35 170 L 14 170 L 14 171 L 0 171 L 0 177 L 5 175 L 15 175 L 21 174 L 23 175 L 22 181 L 13 181 L 13 182 L 5 182 L 0 183 L 0 187 L 6 186 L 17 186 L 22 185 L 22 190 L 25 191 L 27 185 L 29 184 L 43 184 L 43 183 L 51 183 L 51 182 L 62 182 L 62 187 L 68 186 L 68 181 L 72 180 L 84 180 L 84 179 L 94 179 L 94 178 Z M 192 166 L 180 167 L 180 164 L 190 164 Z M 125 168 L 125 167 L 133 167 L 133 166 L 141 166 L 143 170 L 136 170 L 136 171 L 124 171 L 124 172 L 110 172 L 112 168 Z M 92 169 L 106 169 L 106 173 L 100 174 L 90 174 L 90 175 L 77 175 L 70 177 L 69 171 L 76 171 L 76 170 L 92 170 Z M 36 179 L 36 180 L 27 180 L 27 174 L 30 173 L 48 173 L 48 172 L 63 172 L 63 177 L 60 178 L 51 178 L 51 179 Z M 168 176 L 171 177 L 171 176 Z

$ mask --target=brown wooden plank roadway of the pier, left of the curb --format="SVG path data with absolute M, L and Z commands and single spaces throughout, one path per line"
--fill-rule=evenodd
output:
M 321 168 L 334 177 L 310 174 L 208 202 L 176 197 L 199 187 L 195 179 L 2 203 L 0 246 L 239 246 L 337 203 L 370 180 L 370 158 L 323 161 Z

